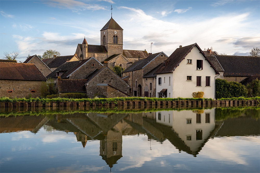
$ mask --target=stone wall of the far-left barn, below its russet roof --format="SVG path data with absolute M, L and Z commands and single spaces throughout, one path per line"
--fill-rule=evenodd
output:
M 23 98 L 31 96 L 33 98 L 41 95 L 42 81 L 35 80 L 3 80 L 1 79 L 0 97 Z

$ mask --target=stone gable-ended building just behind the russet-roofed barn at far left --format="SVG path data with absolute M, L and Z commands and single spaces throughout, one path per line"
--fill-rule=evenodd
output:
M 35 66 L 45 77 L 52 72 L 51 69 L 37 55 L 30 56 L 23 63 L 35 64 Z

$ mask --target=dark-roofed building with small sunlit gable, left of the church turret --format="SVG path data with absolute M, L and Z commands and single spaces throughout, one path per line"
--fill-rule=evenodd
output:
M 53 58 L 43 59 L 43 62 L 51 69 L 51 71 L 56 70 L 56 68 L 58 68 L 65 62 L 71 61 L 79 61 L 77 54 L 59 57 L 54 55 Z

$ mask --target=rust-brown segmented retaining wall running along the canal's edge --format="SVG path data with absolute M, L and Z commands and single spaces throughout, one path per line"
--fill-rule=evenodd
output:
M 0 112 L 36 110 L 89 110 L 102 108 L 200 108 L 200 107 L 260 106 L 260 100 L 194 100 L 194 101 L 112 101 L 104 104 L 93 102 L 0 102 Z

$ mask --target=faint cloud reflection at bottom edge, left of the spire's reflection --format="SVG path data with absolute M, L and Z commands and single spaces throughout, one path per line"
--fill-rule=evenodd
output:
M 71 165 L 70 167 L 58 167 L 58 168 L 50 168 L 43 172 L 98 172 L 100 170 L 104 170 L 106 166 L 96 167 L 94 165 Z

